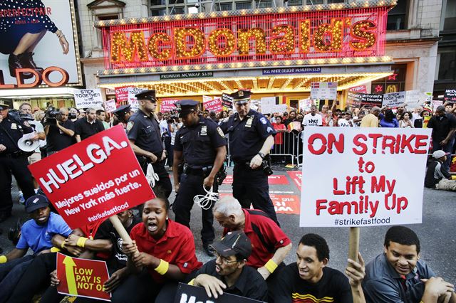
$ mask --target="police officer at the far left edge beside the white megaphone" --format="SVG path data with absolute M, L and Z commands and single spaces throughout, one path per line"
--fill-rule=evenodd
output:
M 33 181 L 28 171 L 28 160 L 17 142 L 24 135 L 33 132 L 30 125 L 24 124 L 18 116 L 9 113 L 9 105 L 0 101 L 0 222 L 11 216 L 11 174 L 27 200 L 35 194 Z M 38 140 L 38 135 L 31 138 Z

